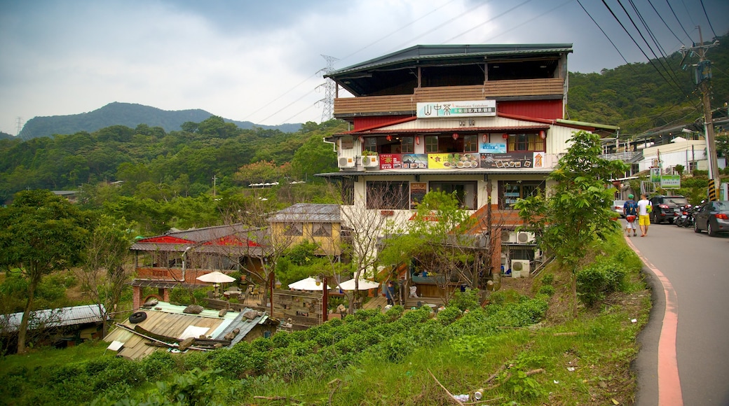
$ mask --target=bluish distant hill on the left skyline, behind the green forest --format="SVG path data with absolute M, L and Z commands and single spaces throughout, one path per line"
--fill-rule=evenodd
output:
M 69 116 L 34 117 L 28 120 L 20 137 L 24 140 L 37 137 L 50 137 L 55 134 L 75 134 L 79 131 L 94 132 L 101 128 L 113 125 L 123 125 L 135 128 L 139 124 L 147 124 L 149 127 L 162 127 L 165 132 L 179 131 L 180 125 L 184 122 L 202 122 L 214 116 L 207 111 L 180 110 L 165 111 L 159 108 L 142 106 L 133 103 L 109 103 L 98 110 L 89 113 L 71 114 Z M 279 126 L 267 126 L 254 124 L 252 122 L 236 122 L 235 120 L 224 119 L 243 130 L 253 127 L 281 130 L 282 132 L 296 132 L 301 124 L 281 124 Z

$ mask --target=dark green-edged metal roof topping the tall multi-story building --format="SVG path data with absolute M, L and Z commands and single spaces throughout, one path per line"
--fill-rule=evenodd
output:
M 443 63 L 451 60 L 463 63 L 464 59 L 485 60 L 494 57 L 523 57 L 525 55 L 558 55 L 572 52 L 572 44 L 473 44 L 473 45 L 416 45 L 414 47 L 376 57 L 347 68 L 324 75 L 336 79 L 347 73 L 367 71 L 374 68 L 405 68 L 416 66 L 423 60 Z

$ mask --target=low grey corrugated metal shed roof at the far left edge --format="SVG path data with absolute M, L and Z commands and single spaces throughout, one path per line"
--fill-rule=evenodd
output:
M 102 311 L 104 305 L 101 305 Z M 1 330 L 2 333 L 12 333 L 17 331 L 17 327 L 20 327 L 20 322 L 23 319 L 23 312 L 4 314 L 3 316 L 5 327 Z M 82 305 L 82 306 L 71 306 L 63 307 L 60 309 L 45 309 L 31 312 L 31 319 L 28 322 L 28 329 L 34 330 L 39 327 L 63 327 L 71 325 L 85 325 L 87 323 L 100 323 L 103 322 L 104 318 L 101 317 L 101 312 L 97 305 Z

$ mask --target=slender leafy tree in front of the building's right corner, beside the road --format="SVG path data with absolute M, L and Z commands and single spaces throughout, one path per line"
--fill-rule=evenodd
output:
M 609 179 L 625 172 L 625 164 L 600 158 L 599 135 L 575 132 L 570 143 L 547 177 L 554 182 L 547 196 L 519 199 L 515 208 L 539 231 L 542 247 L 572 271 L 572 315 L 577 317 L 577 270 L 586 247 L 620 228 L 612 220 L 614 189 Z

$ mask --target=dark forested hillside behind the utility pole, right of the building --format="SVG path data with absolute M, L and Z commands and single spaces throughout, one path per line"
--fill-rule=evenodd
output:
M 719 46 L 706 54 L 714 75 L 712 108 L 729 101 L 729 36 L 718 40 Z M 620 65 L 601 73 L 569 73 L 569 118 L 618 125 L 623 134 L 693 122 L 703 114 L 691 66 L 697 62 L 697 55 L 682 61 L 675 52 L 667 60 Z

